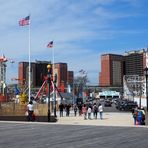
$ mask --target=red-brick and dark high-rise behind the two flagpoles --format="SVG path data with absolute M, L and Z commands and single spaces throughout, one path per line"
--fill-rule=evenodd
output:
M 41 87 L 44 82 L 44 77 L 47 76 L 47 65 L 50 62 L 36 61 L 31 63 L 31 84 L 32 87 L 38 88 Z M 18 78 L 19 83 L 28 84 L 28 62 L 20 62 L 18 69 Z M 57 75 L 57 84 L 58 88 L 61 87 L 61 84 L 64 84 L 64 87 L 67 87 L 67 83 L 73 81 L 73 75 L 69 75 L 67 63 L 55 63 L 54 64 L 54 73 Z

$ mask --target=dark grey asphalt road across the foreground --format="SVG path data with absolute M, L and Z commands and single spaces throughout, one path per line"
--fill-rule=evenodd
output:
M 0 148 L 146 148 L 148 128 L 0 122 Z

